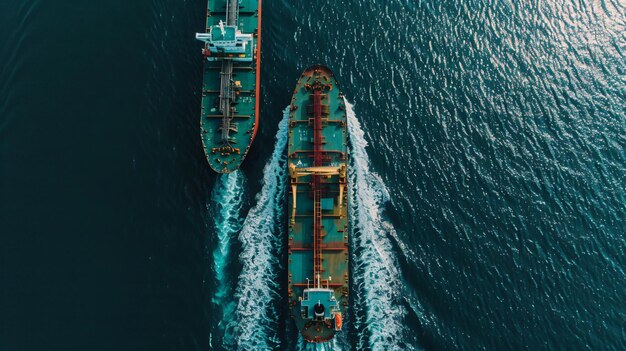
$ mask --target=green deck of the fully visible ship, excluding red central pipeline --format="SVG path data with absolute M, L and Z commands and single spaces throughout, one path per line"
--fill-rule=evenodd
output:
M 348 163 L 347 116 L 343 96 L 330 69 L 310 67 L 298 80 L 289 115 L 290 187 L 288 196 L 289 221 L 289 300 L 291 316 L 305 340 L 330 340 L 334 321 L 312 321 L 306 312 L 309 303 L 300 302 L 307 278 L 314 280 L 314 192 L 313 176 L 294 177 L 294 171 L 314 167 L 314 108 L 313 94 L 306 85 L 319 81 L 332 89 L 324 91 L 321 99 L 324 112 L 321 118 L 322 168 L 344 167 Z M 295 169 L 294 169 L 295 168 Z M 303 173 L 304 174 L 304 173 Z M 347 184 L 345 173 L 320 177 L 321 179 L 321 286 L 330 287 L 345 315 L 348 305 L 348 218 Z M 292 212 L 293 193 L 296 193 L 295 215 Z M 343 189 L 340 189 L 343 187 Z M 341 194 L 341 195 L 340 195 Z M 340 199 L 341 197 L 341 199 Z M 341 203 L 341 205 L 340 205 Z M 332 280 L 328 278 L 332 277 Z M 310 284 L 313 287 L 313 284 Z M 307 305 L 307 306 L 305 306 Z M 328 315 L 328 314 L 327 314 Z M 307 318 L 308 316 L 308 318 Z

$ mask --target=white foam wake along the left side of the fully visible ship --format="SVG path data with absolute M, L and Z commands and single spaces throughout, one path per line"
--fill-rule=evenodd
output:
M 235 311 L 239 350 L 268 350 L 278 344 L 278 314 L 273 302 L 280 295 L 279 253 L 283 249 L 283 203 L 287 181 L 286 151 L 289 109 L 278 125 L 272 157 L 263 170 L 263 188 L 245 219 L 239 240 L 242 252 Z

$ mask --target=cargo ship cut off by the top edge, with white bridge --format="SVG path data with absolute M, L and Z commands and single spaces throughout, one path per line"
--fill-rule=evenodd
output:
M 201 137 L 218 173 L 239 168 L 259 126 L 261 0 L 208 0 Z

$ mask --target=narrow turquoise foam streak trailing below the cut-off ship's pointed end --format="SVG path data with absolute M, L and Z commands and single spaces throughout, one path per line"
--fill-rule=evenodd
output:
M 232 320 L 235 302 L 232 299 L 232 285 L 227 281 L 226 265 L 231 261 L 230 247 L 232 239 L 239 233 L 243 220 L 241 206 L 243 203 L 244 176 L 240 171 L 222 174 L 211 194 L 213 204 L 217 245 L 213 251 L 213 267 L 217 283 L 213 303 L 222 312 L 219 323 L 222 334 L 229 333 L 228 323 Z

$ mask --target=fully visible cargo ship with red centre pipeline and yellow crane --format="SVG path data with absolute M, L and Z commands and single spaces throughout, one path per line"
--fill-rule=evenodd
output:
M 308 342 L 341 330 L 348 307 L 347 114 L 333 72 L 307 68 L 289 112 L 288 294 Z

